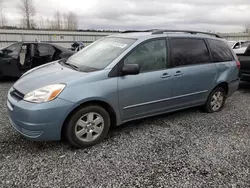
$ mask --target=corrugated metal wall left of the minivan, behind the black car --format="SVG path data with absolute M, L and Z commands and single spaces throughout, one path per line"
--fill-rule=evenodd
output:
M 74 41 L 82 41 L 88 45 L 111 34 L 114 33 L 0 29 L 0 47 L 18 41 L 34 42 L 38 40 L 70 48 Z

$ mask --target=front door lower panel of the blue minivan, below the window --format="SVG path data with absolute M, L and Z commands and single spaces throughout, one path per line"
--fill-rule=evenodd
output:
M 169 75 L 162 78 L 163 75 Z M 164 112 L 171 106 L 171 70 L 118 77 L 119 107 L 123 121 Z

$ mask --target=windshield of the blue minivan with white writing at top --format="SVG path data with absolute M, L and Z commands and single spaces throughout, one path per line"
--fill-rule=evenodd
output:
M 66 63 L 85 69 L 101 70 L 130 47 L 135 39 L 107 37 L 71 56 Z

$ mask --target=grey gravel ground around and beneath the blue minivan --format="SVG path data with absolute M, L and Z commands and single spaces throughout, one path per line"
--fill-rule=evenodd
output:
M 0 83 L 0 187 L 250 187 L 250 84 L 219 113 L 127 123 L 83 150 L 16 133 L 5 107 L 12 84 Z

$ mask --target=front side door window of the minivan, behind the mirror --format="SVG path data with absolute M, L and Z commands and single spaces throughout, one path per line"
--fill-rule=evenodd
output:
M 138 64 L 140 72 L 166 68 L 166 41 L 155 40 L 140 45 L 126 59 L 125 64 Z

